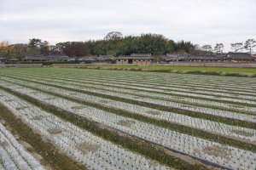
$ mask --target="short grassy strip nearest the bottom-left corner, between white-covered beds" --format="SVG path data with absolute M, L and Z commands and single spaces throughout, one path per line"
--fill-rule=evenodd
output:
M 20 139 L 32 146 L 40 156 L 44 158 L 46 165 L 56 170 L 83 170 L 84 165 L 73 161 L 70 157 L 62 154 L 55 145 L 45 142 L 39 133 L 32 130 L 25 122 L 16 117 L 11 111 L 0 104 L 0 117 L 4 120 L 5 126 L 11 129 L 11 133 L 18 134 Z

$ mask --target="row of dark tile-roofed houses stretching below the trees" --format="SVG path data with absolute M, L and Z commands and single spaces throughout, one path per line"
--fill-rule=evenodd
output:
M 0 57 L 0 63 L 4 61 L 4 58 Z M 17 59 L 13 59 L 14 61 Z M 75 59 L 69 58 L 66 55 L 33 55 L 26 56 L 25 61 L 68 61 L 74 62 Z M 190 55 L 190 54 L 166 54 L 159 59 L 155 59 L 151 54 L 131 54 L 123 55 L 114 58 L 113 56 L 100 55 L 98 57 L 81 57 L 79 63 L 108 63 L 117 65 L 151 65 L 155 64 L 171 64 L 173 62 L 180 61 L 233 61 L 233 62 L 250 62 L 256 60 L 256 56 L 253 57 L 247 53 L 228 53 L 225 55 Z

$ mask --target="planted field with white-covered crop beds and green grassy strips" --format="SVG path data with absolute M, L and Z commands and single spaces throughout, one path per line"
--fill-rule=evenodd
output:
M 0 169 L 70 161 L 72 169 L 255 170 L 255 92 L 253 77 L 0 69 Z M 41 138 L 14 133 L 15 118 Z M 57 151 L 44 154 L 45 141 Z

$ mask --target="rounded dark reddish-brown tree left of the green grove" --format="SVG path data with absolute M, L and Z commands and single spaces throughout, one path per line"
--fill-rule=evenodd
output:
M 85 42 L 70 42 L 63 48 L 63 53 L 78 63 L 79 58 L 90 54 L 90 49 Z

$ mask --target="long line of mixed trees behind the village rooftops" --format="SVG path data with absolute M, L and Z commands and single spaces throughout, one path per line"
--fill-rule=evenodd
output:
M 253 39 L 248 39 L 244 43 L 231 43 L 230 46 L 234 52 L 245 49 L 252 54 L 256 42 Z M 78 60 L 79 57 L 88 55 L 152 54 L 160 56 L 163 54 L 223 54 L 223 51 L 223 43 L 216 43 L 214 48 L 207 44 L 200 47 L 189 41 L 174 42 L 160 34 L 149 33 L 123 37 L 119 31 L 109 32 L 102 40 L 58 42 L 55 45 L 38 38 L 29 39 L 28 43 L 9 44 L 8 42 L 0 42 L 0 55 L 6 59 L 23 59 L 26 55 L 66 54 Z

